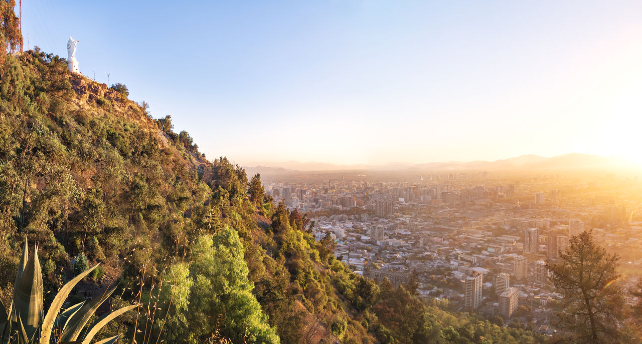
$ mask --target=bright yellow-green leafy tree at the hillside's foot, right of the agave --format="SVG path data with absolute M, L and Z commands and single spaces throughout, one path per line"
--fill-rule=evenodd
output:
M 171 291 L 162 302 L 176 299 L 164 332 L 173 343 L 200 343 L 221 320 L 221 334 L 233 342 L 279 343 L 267 316 L 252 294 L 243 245 L 238 234 L 224 227 L 214 236 L 199 237 L 193 247 L 189 276 L 185 265 L 169 269 Z M 197 325 L 198 324 L 198 325 Z M 184 329 L 189 327 L 190 334 Z

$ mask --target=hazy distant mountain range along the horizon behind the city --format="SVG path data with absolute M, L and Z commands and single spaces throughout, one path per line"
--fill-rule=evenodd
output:
M 281 163 L 257 163 L 245 167 L 249 173 L 282 174 L 294 171 L 336 171 L 336 170 L 377 170 L 377 171 L 458 171 L 458 170 L 595 170 L 618 167 L 630 167 L 630 163 L 621 158 L 571 153 L 546 158 L 535 154 L 526 154 L 516 158 L 496 161 L 448 161 L 435 163 L 386 163 L 385 165 L 335 165 L 310 161 L 284 161 Z

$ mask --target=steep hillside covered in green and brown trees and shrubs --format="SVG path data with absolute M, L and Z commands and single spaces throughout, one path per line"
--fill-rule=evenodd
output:
M 142 304 L 96 337 L 125 343 L 538 343 L 520 328 L 450 313 L 413 285 L 352 274 L 314 223 L 263 193 L 260 176 L 205 159 L 171 117 L 68 72 L 39 49 L 0 79 L 0 299 L 24 236 L 52 291 L 86 256 L 116 278 L 114 306 Z M 80 259 L 82 258 L 82 259 Z M 87 263 L 83 263 L 87 264 Z M 96 269 L 98 271 L 98 269 Z M 101 274 L 105 274 L 103 271 Z M 96 273 L 85 283 L 100 281 Z

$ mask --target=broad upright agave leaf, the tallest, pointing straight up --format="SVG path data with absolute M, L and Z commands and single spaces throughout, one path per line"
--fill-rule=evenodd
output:
M 17 290 L 13 291 L 13 305 L 15 312 L 19 315 L 21 325 L 24 326 L 24 331 L 31 340 L 42 324 L 44 313 L 38 247 L 35 247 L 33 254 L 24 266 Z

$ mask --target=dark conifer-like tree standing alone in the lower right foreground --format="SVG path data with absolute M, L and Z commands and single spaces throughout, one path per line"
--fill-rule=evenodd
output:
M 572 343 L 625 343 L 625 298 L 617 279 L 618 255 L 608 254 L 593 241 L 590 231 L 571 238 L 560 252 L 560 263 L 546 265 L 551 281 L 564 295 L 559 314 L 558 341 Z

